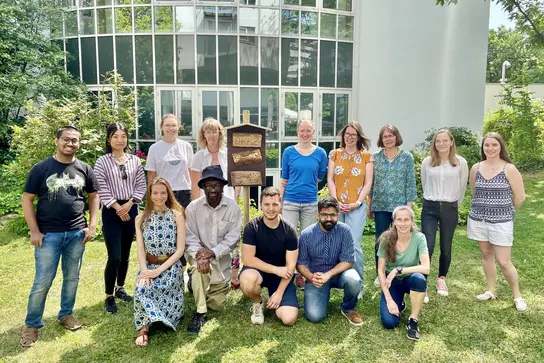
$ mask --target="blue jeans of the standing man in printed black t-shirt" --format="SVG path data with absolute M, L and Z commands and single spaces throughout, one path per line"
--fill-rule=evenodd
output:
M 42 247 L 34 248 L 36 274 L 28 297 L 25 325 L 28 328 L 43 326 L 43 310 L 49 288 L 57 274 L 57 267 L 62 256 L 62 291 L 58 318 L 72 315 L 76 301 L 79 270 L 85 245 L 82 244 L 85 233 L 81 229 L 68 232 L 47 233 Z

